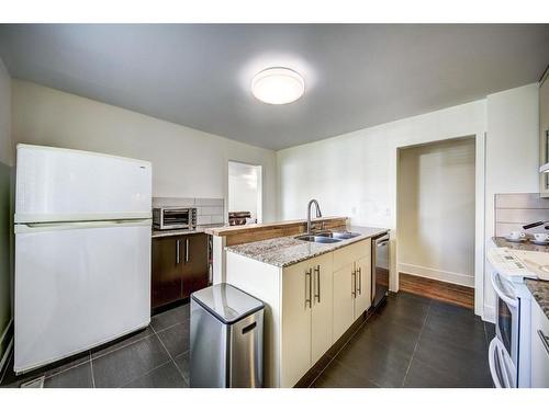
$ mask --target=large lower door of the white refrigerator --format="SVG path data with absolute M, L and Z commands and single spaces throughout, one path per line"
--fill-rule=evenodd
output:
M 16 373 L 149 322 L 150 220 L 16 231 Z

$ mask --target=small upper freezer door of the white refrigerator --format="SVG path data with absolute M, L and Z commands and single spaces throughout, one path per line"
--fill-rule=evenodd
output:
M 15 222 L 150 218 L 147 161 L 18 145 Z

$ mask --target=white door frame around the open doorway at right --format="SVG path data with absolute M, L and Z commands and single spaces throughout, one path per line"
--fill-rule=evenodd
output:
M 484 271 L 485 271 L 485 173 L 486 173 L 486 134 L 484 132 L 457 136 L 451 138 L 435 139 L 422 141 L 412 145 L 396 146 L 393 151 L 393 161 L 395 164 L 396 192 L 394 196 L 394 232 L 392 237 L 391 267 L 389 275 L 389 288 L 392 292 L 399 292 L 399 173 L 400 173 L 400 152 L 402 149 L 426 146 L 429 144 L 448 142 L 464 138 L 474 138 L 474 313 L 484 317 Z

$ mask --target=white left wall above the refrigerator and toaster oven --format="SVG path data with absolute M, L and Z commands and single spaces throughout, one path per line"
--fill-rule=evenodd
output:
M 226 198 L 228 160 L 262 165 L 264 219 L 277 218 L 271 150 L 68 94 L 12 82 L 15 142 L 99 151 L 153 162 L 157 197 Z

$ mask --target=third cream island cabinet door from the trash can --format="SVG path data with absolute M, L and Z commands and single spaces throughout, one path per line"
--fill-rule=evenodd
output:
M 334 272 L 334 343 L 347 331 L 355 319 L 354 272 L 354 263 Z

